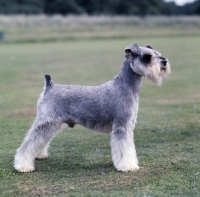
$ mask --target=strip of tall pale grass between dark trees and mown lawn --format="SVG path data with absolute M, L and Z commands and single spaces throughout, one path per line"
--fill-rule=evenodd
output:
M 199 17 L 0 15 L 5 42 L 199 36 Z

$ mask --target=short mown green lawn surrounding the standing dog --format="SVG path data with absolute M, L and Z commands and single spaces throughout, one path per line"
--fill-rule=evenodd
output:
M 116 27 L 121 39 L 109 29 L 106 39 L 88 31 L 87 39 L 1 43 L 0 196 L 200 196 L 200 28 L 191 24 L 180 35 L 173 25 L 166 34 L 158 27 L 159 36 L 155 26 L 146 29 L 151 36 Z M 101 84 L 118 73 L 131 42 L 151 44 L 172 66 L 162 87 L 143 81 L 134 131 L 141 169 L 117 172 L 110 137 L 75 126 L 52 141 L 49 158 L 37 160 L 36 171 L 16 172 L 13 157 L 34 120 L 43 75 L 55 83 Z

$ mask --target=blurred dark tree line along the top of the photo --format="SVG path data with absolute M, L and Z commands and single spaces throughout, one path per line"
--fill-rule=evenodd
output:
M 163 0 L 0 0 L 0 14 L 199 15 L 200 0 L 177 6 Z

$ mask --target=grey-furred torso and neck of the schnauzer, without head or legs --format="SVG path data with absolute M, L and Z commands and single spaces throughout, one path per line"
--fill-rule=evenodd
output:
M 141 78 L 125 61 L 114 80 L 100 86 L 54 84 L 40 99 L 37 118 L 49 117 L 52 121 L 69 121 L 88 129 L 111 132 L 114 121 L 125 124 L 131 116 L 127 109 L 138 102 Z

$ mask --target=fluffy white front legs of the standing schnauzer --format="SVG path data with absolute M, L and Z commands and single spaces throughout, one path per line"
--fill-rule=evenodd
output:
M 127 172 L 139 169 L 132 129 L 120 124 L 113 126 L 111 153 L 114 166 L 118 171 Z

